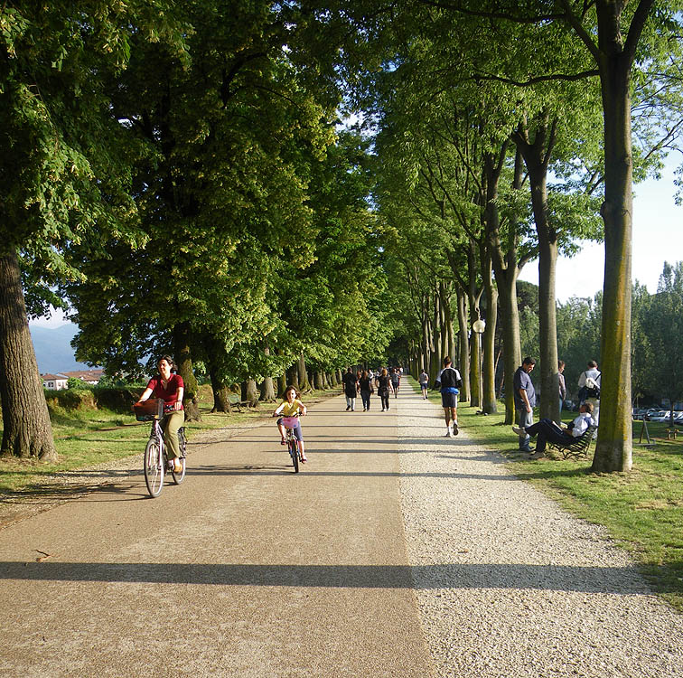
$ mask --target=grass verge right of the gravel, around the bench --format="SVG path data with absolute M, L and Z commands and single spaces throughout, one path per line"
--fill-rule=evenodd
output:
M 441 403 L 434 391 L 429 400 Z M 669 440 L 666 424 L 649 423 L 655 445 L 646 447 L 638 443 L 642 423 L 635 421 L 632 471 L 594 474 L 590 468 L 594 446 L 589 457 L 580 460 L 553 456 L 533 460 L 519 453 L 517 436 L 503 424 L 505 406 L 499 403 L 499 407 L 501 414 L 484 416 L 461 405 L 458 423 L 472 438 L 507 457 L 516 476 L 570 513 L 603 525 L 641 565 L 652 588 L 683 611 L 683 436 Z M 565 412 L 563 419 L 574 417 L 574 412 Z

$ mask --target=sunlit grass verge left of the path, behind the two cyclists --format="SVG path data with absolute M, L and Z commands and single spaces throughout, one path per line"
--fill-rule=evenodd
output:
M 304 401 L 313 403 L 338 393 L 338 389 L 315 391 L 305 395 Z M 257 410 L 211 414 L 209 407 L 201 407 L 201 421 L 185 425 L 188 439 L 192 440 L 203 430 L 233 428 L 247 421 L 267 418 L 272 409 L 262 404 Z M 0 501 L 8 495 L 16 498 L 49 493 L 51 476 L 65 471 L 98 466 L 132 455 L 140 456 L 142 467 L 142 454 L 151 425 L 137 422 L 132 412 L 122 415 L 108 410 L 59 410 L 52 412 L 51 422 L 59 460 L 52 464 L 0 457 Z

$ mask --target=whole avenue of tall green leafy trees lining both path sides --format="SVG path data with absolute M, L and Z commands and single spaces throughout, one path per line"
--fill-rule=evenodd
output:
M 463 399 L 493 412 L 502 391 L 511 422 L 529 347 L 557 419 L 557 359 L 586 315 L 602 323 L 582 356 L 603 370 L 594 470 L 628 470 L 632 372 L 641 388 L 655 350 L 632 343 L 632 184 L 678 147 L 680 9 L 5 4 L 2 452 L 54 456 L 27 322 L 50 304 L 109 374 L 173 354 L 191 417 L 198 363 L 229 410 L 234 383 L 272 400 L 388 355 L 434 376 L 451 353 Z M 557 256 L 586 239 L 604 241 L 603 293 L 558 306 Z M 538 295 L 517 281 L 535 259 Z M 669 322 L 680 277 L 634 288 L 634 327 Z

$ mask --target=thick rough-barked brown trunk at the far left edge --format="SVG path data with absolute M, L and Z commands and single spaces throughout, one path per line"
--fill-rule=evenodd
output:
M 0 251 L 2 454 L 57 461 L 50 413 L 35 360 L 14 247 Z

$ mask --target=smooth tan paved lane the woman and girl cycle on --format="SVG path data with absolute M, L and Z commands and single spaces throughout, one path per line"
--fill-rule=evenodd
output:
M 378 405 L 314 405 L 298 475 L 267 423 L 5 527 L 0 675 L 432 676 Z

